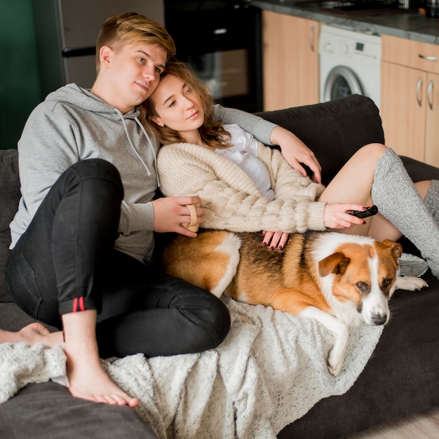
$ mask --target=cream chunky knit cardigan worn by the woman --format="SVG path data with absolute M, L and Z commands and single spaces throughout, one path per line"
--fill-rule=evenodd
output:
M 257 156 L 269 170 L 275 199 L 269 201 L 233 161 L 196 144 L 161 147 L 158 174 L 164 196 L 198 194 L 205 229 L 230 231 L 324 230 L 322 184 L 291 168 L 280 151 L 259 143 Z

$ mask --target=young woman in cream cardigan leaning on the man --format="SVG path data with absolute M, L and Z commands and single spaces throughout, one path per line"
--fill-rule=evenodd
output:
M 368 144 L 325 188 L 238 126 L 215 122 L 211 102 L 191 69 L 172 62 L 142 106 L 148 126 L 165 145 L 158 154 L 161 190 L 166 196 L 198 194 L 205 208 L 202 227 L 266 231 L 264 244 L 271 248 L 309 229 L 379 241 L 405 234 L 439 276 L 438 218 L 431 213 L 439 200 L 437 182 L 415 186 L 392 149 Z M 374 217 L 348 213 L 372 204 L 380 212 Z

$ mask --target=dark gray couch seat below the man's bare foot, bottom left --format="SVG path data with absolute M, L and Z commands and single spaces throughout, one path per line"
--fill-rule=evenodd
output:
M 53 382 L 28 384 L 0 405 L 0 438 L 8 439 L 156 439 L 128 405 L 107 405 L 72 398 Z

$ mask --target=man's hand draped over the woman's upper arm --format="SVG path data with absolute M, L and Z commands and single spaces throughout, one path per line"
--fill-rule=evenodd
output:
M 311 180 L 315 183 L 322 181 L 322 167 L 320 163 L 318 163 L 313 151 L 311 151 L 299 137 L 281 126 L 276 126 L 276 128 L 271 131 L 270 142 L 281 147 L 282 155 L 285 157 L 285 160 L 290 163 L 292 168 L 295 168 L 295 170 L 298 170 L 299 173 L 306 177 L 306 170 L 302 166 L 302 163 L 304 163 L 313 173 Z

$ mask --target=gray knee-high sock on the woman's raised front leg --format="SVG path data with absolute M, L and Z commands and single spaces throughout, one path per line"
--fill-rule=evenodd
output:
M 372 201 L 417 246 L 433 275 L 439 277 L 439 226 L 392 149 L 384 152 L 375 169 Z

